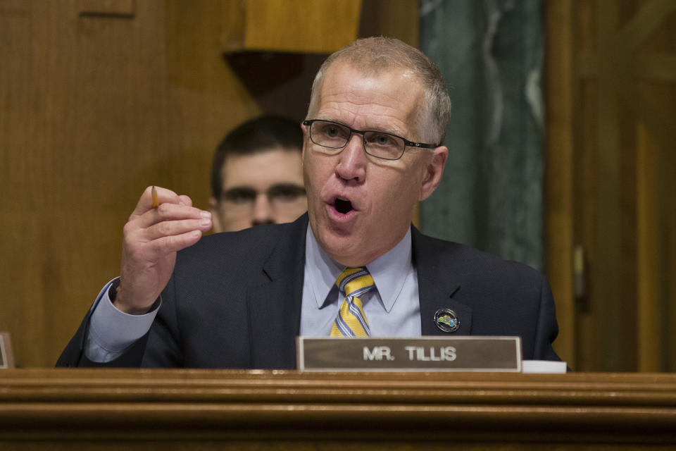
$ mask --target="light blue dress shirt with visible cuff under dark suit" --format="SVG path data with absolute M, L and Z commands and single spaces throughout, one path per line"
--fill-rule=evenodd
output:
M 377 290 L 363 297 L 363 309 L 374 337 L 419 337 L 418 276 L 411 263 L 411 229 L 389 252 L 366 265 Z M 321 249 L 311 227 L 306 233 L 301 335 L 328 336 L 344 295 L 335 285 L 345 266 Z M 114 279 L 113 279 L 114 280 Z M 108 297 L 111 283 L 99 292 L 85 338 L 84 353 L 92 362 L 119 357 L 150 329 L 160 305 L 144 315 L 119 311 Z

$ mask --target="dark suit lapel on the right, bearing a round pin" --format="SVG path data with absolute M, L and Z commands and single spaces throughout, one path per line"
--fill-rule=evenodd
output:
M 412 228 L 413 264 L 418 273 L 418 295 L 420 297 L 420 321 L 423 335 L 470 335 L 472 331 L 472 309 L 453 300 L 453 295 L 462 289 L 457 265 L 453 254 L 439 252 L 438 243 Z M 459 268 L 458 268 L 459 269 Z M 460 322 L 453 333 L 437 328 L 434 314 L 439 309 L 451 309 Z

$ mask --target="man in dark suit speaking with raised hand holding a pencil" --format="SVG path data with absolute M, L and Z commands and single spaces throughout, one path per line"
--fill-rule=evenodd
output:
M 436 66 L 396 39 L 332 54 L 302 126 L 308 214 L 200 240 L 208 212 L 164 189 L 153 208 L 147 189 L 120 278 L 58 365 L 293 368 L 296 335 L 449 333 L 520 335 L 525 359 L 558 359 L 544 276 L 411 226 L 441 180 L 450 109 Z

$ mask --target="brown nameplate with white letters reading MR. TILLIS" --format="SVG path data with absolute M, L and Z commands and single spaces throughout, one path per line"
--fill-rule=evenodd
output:
M 521 371 L 520 337 L 296 338 L 300 371 Z

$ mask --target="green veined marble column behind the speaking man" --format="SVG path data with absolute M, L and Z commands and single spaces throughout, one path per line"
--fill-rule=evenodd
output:
M 423 232 L 542 268 L 542 0 L 422 0 L 420 49 L 453 101 L 444 180 Z

